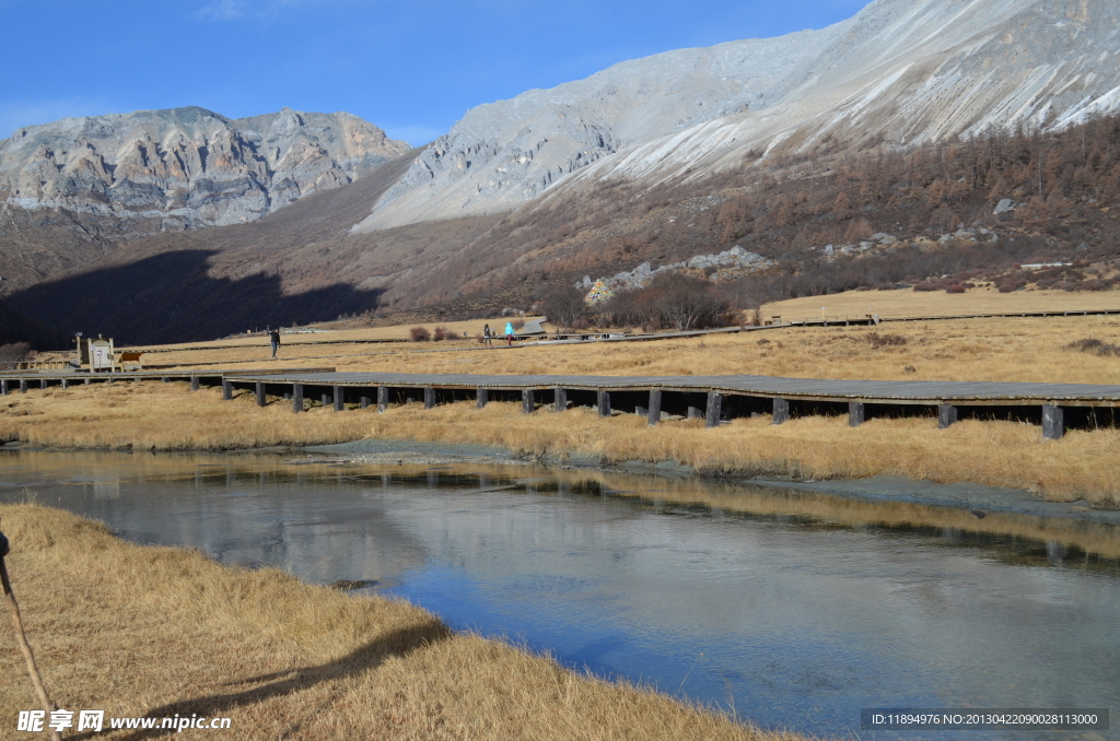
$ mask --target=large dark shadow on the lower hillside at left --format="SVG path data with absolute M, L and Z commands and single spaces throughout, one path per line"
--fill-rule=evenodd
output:
M 335 319 L 376 307 L 381 290 L 334 283 L 284 294 L 280 278 L 212 278 L 212 250 L 168 252 L 138 262 L 90 271 L 12 294 L 19 312 L 73 337 L 99 334 L 118 345 L 214 339 L 267 325 L 291 326 Z

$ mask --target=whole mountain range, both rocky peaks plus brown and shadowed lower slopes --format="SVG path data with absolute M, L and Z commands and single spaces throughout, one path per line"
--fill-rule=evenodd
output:
M 1117 0 L 875 0 L 478 106 L 404 157 L 353 116 L 289 110 L 28 128 L 0 142 L 0 299 L 171 341 L 657 270 L 813 294 L 1113 260 L 1118 54 Z

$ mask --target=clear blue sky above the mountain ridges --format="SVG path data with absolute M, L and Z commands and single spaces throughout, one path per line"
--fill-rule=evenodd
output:
M 68 115 L 349 111 L 422 144 L 470 107 L 865 0 L 0 0 L 0 139 Z

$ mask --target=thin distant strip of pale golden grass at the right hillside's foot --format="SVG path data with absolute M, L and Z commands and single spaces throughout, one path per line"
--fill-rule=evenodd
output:
M 846 291 L 831 296 L 810 296 L 775 301 L 762 307 L 764 318 L 783 321 L 827 317 L 946 317 L 962 313 L 1002 313 L 1021 311 L 1120 310 L 1120 291 L 1029 290 L 1000 293 L 995 289 L 974 289 L 964 293 L 945 291 Z

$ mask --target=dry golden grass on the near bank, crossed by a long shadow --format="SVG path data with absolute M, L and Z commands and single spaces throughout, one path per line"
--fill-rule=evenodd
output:
M 405 603 L 130 545 L 56 509 L 0 506 L 0 517 L 28 637 L 66 709 L 227 716 L 231 739 L 794 738 L 452 635 Z M 2 623 L 0 717 L 12 734 L 17 712 L 36 704 L 10 623 Z

